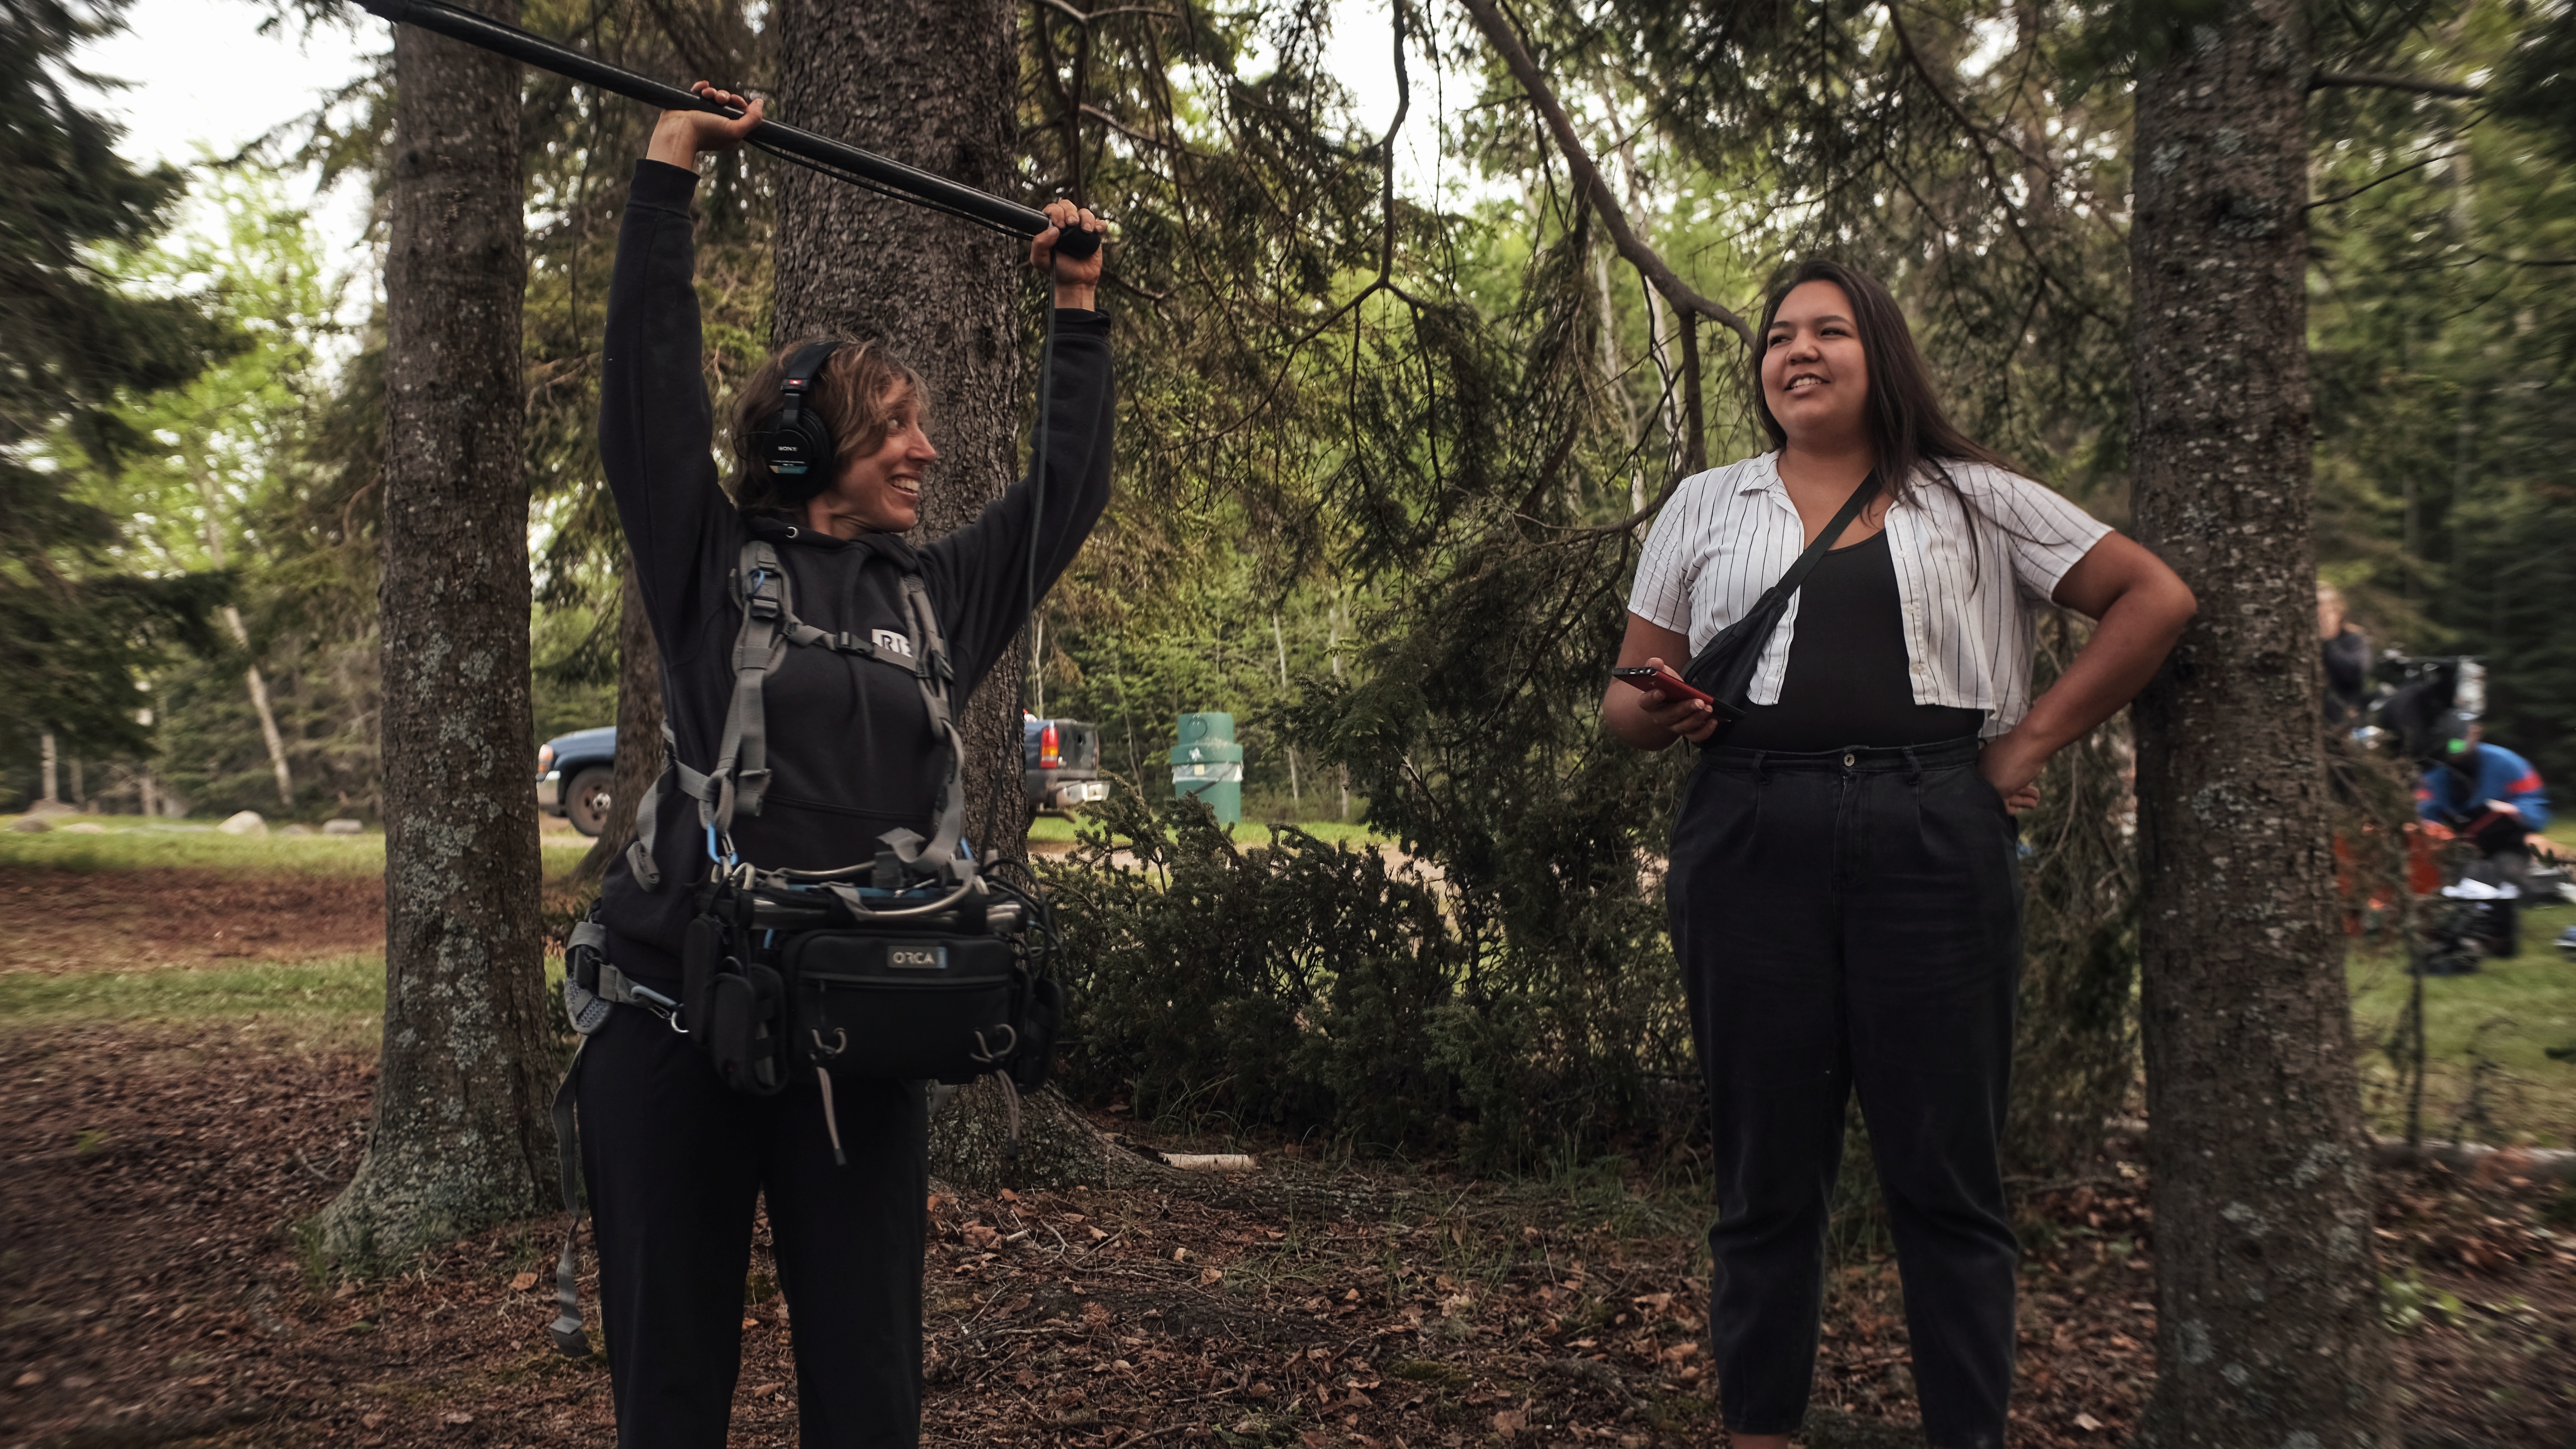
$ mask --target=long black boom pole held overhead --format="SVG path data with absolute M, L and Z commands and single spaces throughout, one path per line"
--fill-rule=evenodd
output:
M 680 90 L 677 85 L 662 85 L 659 80 L 647 80 L 631 69 L 618 69 L 600 59 L 585 57 L 582 51 L 559 46 L 544 36 L 531 36 L 518 26 L 505 26 L 489 15 L 477 15 L 461 5 L 448 5 L 446 0 L 358 0 L 374 15 L 381 15 L 397 26 L 420 26 L 422 31 L 438 31 L 451 41 L 464 41 L 469 46 L 487 49 L 492 54 L 510 57 L 520 64 L 533 64 L 536 69 L 549 69 L 564 80 L 577 80 L 582 85 L 598 85 L 600 90 L 623 95 L 629 100 L 641 100 L 644 106 L 659 106 L 662 111 L 714 111 L 716 116 L 739 118 L 739 106 L 716 106 L 714 100 L 701 100 L 696 93 Z M 899 196 L 917 206 L 933 211 L 945 211 L 948 216 L 961 216 L 966 221 L 979 221 L 994 232 L 1010 232 L 1015 237 L 1036 237 L 1054 226 L 1043 211 L 1020 206 L 1018 201 L 1002 201 L 999 196 L 976 190 L 971 185 L 958 185 L 945 175 L 930 175 L 920 167 L 907 167 L 904 162 L 886 160 L 873 152 L 863 152 L 853 144 L 835 142 L 829 136 L 817 136 L 799 126 L 786 126 L 781 121 L 762 121 L 752 129 L 750 144 L 773 152 L 778 157 L 809 165 L 824 175 L 866 185 L 868 190 L 881 190 Z M 1072 229 L 1056 242 L 1056 252 L 1069 260 L 1090 257 L 1100 250 L 1100 234 Z

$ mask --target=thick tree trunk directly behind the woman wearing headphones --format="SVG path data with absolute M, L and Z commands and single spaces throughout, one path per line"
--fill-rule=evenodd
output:
M 1020 31 L 1002 0 L 829 5 L 786 0 L 778 33 L 778 118 L 956 178 L 1012 193 Z M 940 463 L 922 489 L 922 538 L 976 520 L 1018 476 L 1020 299 L 1036 286 L 1025 247 L 981 226 L 886 201 L 801 167 L 778 188 L 778 342 L 809 335 L 876 337 L 930 386 Z M 981 860 L 1028 857 L 1020 777 L 1020 667 L 1007 649 L 958 713 L 966 736 L 966 834 Z M 927 829 L 927 826 L 925 826 Z M 969 1091 L 933 1125 L 933 1153 L 953 1132 L 989 1135 L 999 1091 Z M 1030 1138 L 1069 1114 L 1033 1114 Z M 1028 1161 L 1074 1161 L 1082 1148 L 1030 1140 Z

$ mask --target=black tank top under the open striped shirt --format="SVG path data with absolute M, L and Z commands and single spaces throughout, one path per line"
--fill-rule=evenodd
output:
M 1844 749 L 1963 739 L 1986 710 L 1917 705 L 1906 618 L 1886 530 L 1834 548 L 1798 589 L 1798 625 L 1777 705 L 1754 705 L 1726 734 L 1739 749 Z

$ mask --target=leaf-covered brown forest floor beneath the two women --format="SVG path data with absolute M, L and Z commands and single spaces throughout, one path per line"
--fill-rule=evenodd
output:
M 335 875 L 0 854 L 0 1446 L 608 1441 L 600 1359 L 544 1338 L 562 1220 L 371 1279 L 301 1251 L 358 1163 L 381 1004 L 374 896 Z M 1723 1441 L 1703 1192 L 1615 1163 L 1479 1184 L 1296 1148 L 1262 1171 L 1363 1176 L 1388 1207 L 940 1192 L 925 1439 Z M 2081 1181 L 2020 1186 L 2014 1441 L 2120 1444 L 2151 1374 L 2143 1168 L 2112 1143 Z M 2481 1179 L 2383 1174 L 2380 1199 L 2409 1444 L 2576 1444 L 2576 1192 L 2501 1158 Z M 786 1320 L 762 1230 L 734 1444 L 796 1441 Z M 1883 1246 L 1837 1256 L 1816 1410 L 1816 1446 L 1904 1444 Z

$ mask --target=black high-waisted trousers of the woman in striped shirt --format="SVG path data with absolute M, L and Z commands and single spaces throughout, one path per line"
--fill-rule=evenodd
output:
M 1672 839 L 1708 1081 L 1708 1331 L 1726 1426 L 1806 1416 L 1852 1091 L 1888 1202 L 1924 1436 L 1996 1446 L 2017 1243 L 1996 1145 L 2022 970 L 2020 839 L 1976 741 L 1710 749 Z

